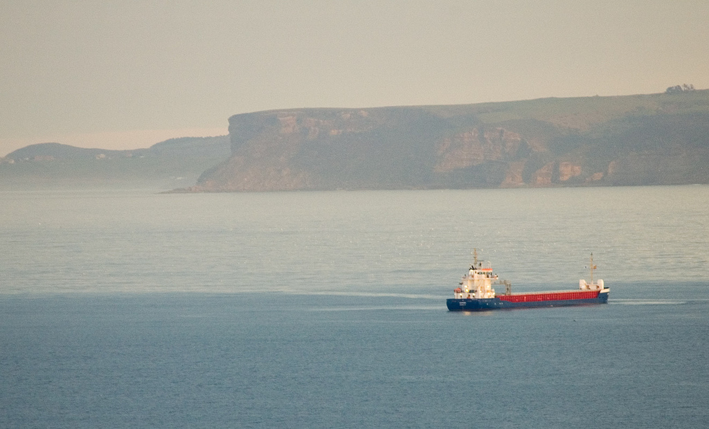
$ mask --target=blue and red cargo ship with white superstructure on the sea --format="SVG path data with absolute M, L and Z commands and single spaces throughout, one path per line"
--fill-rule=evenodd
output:
M 579 280 L 579 289 L 569 291 L 529 292 L 513 294 L 510 282 L 501 281 L 493 274 L 489 261 L 478 261 L 477 250 L 474 262 L 463 276 L 460 286 L 454 289 L 454 298 L 446 305 L 450 311 L 485 311 L 499 308 L 583 306 L 608 302 L 610 289 L 602 279 L 593 281 L 593 253 L 591 253 L 591 282 Z M 494 285 L 505 286 L 504 294 L 496 294 Z

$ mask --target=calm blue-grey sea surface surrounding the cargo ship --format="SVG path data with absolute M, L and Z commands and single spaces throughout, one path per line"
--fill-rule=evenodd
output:
M 473 249 L 513 291 L 449 312 Z M 0 191 L 0 428 L 707 428 L 709 186 Z

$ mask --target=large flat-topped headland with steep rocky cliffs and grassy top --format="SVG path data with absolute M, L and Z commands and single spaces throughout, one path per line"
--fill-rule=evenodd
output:
M 229 119 L 189 191 L 709 183 L 709 91 Z

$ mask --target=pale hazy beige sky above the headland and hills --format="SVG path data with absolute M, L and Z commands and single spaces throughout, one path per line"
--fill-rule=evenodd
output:
M 0 156 L 274 108 L 709 88 L 708 0 L 0 0 Z

